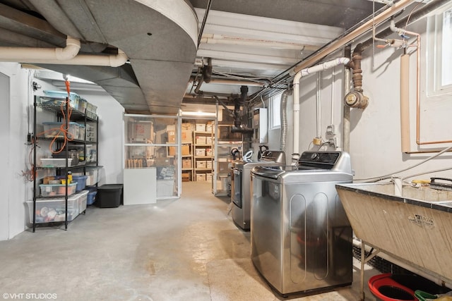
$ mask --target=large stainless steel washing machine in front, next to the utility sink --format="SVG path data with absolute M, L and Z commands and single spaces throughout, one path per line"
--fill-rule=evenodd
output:
M 345 152 L 304 152 L 297 166 L 251 171 L 251 259 L 281 295 L 352 283 L 352 228 L 335 184 L 352 182 Z

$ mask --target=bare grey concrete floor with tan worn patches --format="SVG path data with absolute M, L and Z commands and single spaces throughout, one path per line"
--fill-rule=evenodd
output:
M 88 207 L 68 231 L 25 231 L 0 242 L 0 293 L 3 300 L 20 299 L 14 293 L 38 294 L 23 300 L 285 300 L 254 269 L 249 232 L 234 226 L 229 203 L 209 183 L 189 182 L 181 199 Z M 355 261 L 349 287 L 289 299 L 359 300 L 358 269 Z M 366 281 L 374 274 L 366 271 Z

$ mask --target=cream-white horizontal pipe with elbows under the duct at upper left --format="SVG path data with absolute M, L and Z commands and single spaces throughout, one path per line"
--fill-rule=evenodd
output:
M 64 48 L 0 47 L 0 61 L 119 67 L 128 59 L 120 49 L 116 55 L 78 54 L 79 50 L 80 41 L 68 37 Z

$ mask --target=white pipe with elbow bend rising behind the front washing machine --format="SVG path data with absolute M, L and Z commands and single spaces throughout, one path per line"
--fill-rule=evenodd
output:
M 334 66 L 338 66 L 340 64 L 346 65 L 350 62 L 350 59 L 348 58 L 337 58 L 333 59 L 331 61 L 327 61 L 325 63 L 320 63 L 319 65 L 305 68 L 300 70 L 295 74 L 294 80 L 293 80 L 293 86 L 294 86 L 294 131 L 293 131 L 293 153 L 299 154 L 299 80 L 301 80 L 302 77 L 319 72 L 321 70 L 327 70 L 329 68 L 333 68 Z

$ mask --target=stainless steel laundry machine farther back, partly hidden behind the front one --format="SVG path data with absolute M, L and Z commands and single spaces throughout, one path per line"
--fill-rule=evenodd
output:
M 281 151 L 266 150 L 258 161 L 232 162 L 232 220 L 244 231 L 249 231 L 251 205 L 251 168 L 285 164 L 285 154 Z

